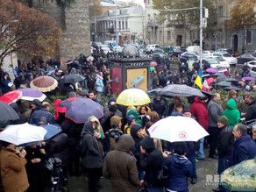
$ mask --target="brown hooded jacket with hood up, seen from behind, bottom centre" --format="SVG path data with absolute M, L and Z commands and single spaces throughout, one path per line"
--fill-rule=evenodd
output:
M 134 140 L 124 134 L 117 142 L 117 148 L 106 155 L 103 176 L 111 180 L 113 192 L 134 192 L 139 185 L 136 159 L 130 152 Z

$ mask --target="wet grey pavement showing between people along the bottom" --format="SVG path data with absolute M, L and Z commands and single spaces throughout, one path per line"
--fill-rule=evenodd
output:
M 205 153 L 207 154 L 207 153 Z M 196 162 L 197 182 L 195 185 L 189 185 L 189 192 L 210 192 L 217 185 L 210 185 L 206 182 L 206 175 L 217 174 L 217 160 Z M 71 177 L 69 181 L 70 192 L 88 192 L 87 178 L 85 176 Z M 99 183 L 99 192 L 111 192 L 110 181 L 101 179 Z

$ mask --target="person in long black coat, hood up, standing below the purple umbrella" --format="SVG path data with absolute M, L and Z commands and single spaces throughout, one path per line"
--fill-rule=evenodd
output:
M 82 166 L 86 168 L 89 192 L 97 192 L 97 184 L 103 172 L 103 153 L 94 137 L 92 126 L 83 127 Z

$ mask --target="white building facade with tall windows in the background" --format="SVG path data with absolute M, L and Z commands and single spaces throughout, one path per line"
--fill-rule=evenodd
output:
M 96 41 L 116 40 L 118 44 L 138 43 L 143 39 L 144 14 L 141 6 L 111 7 L 103 16 L 95 18 Z

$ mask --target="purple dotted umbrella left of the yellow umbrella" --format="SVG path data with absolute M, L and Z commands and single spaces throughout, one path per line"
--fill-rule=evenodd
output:
M 82 124 L 90 116 L 103 117 L 103 106 L 89 98 L 79 97 L 67 107 L 65 117 L 68 117 L 76 124 Z

